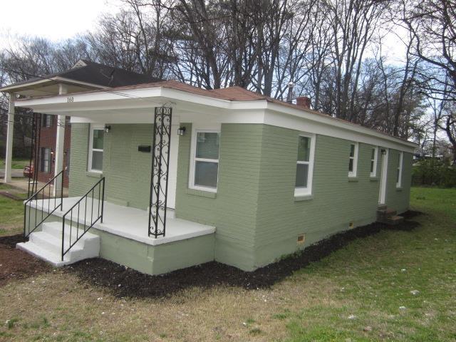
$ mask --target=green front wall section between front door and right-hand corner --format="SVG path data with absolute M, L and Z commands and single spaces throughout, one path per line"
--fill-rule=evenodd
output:
M 192 125 L 180 136 L 176 217 L 216 227 L 215 259 L 252 269 L 261 164 L 261 125 L 222 124 L 217 195 L 190 190 Z

